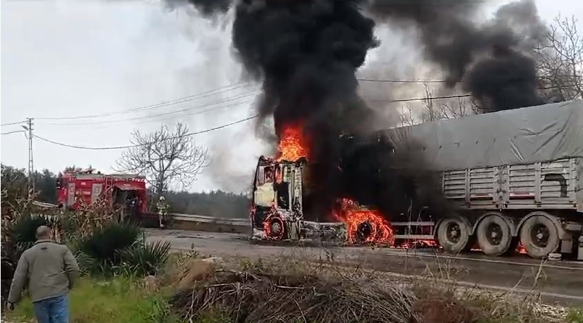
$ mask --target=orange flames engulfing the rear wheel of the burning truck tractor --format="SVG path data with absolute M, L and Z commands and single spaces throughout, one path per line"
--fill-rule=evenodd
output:
M 346 240 L 355 243 L 358 240 L 375 242 L 379 244 L 393 243 L 393 230 L 391 225 L 376 210 L 361 209 L 354 200 L 342 199 L 342 207 L 339 213 L 333 213 L 335 218 L 346 223 Z M 363 225 L 368 226 L 368 234 L 359 237 L 359 230 Z

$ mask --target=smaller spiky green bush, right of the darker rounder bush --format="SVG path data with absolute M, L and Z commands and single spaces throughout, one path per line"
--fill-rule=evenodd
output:
M 155 275 L 168 261 L 170 242 L 144 244 L 139 241 L 121 252 L 123 270 L 133 275 Z

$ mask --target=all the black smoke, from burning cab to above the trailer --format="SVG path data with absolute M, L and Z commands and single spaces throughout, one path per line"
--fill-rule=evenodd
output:
M 299 124 L 310 140 L 315 203 L 306 217 L 328 214 L 333 200 L 344 196 L 375 205 L 386 216 L 413 205 L 446 207 L 428 167 L 411 153 L 415 149 L 393 152 L 391 143 L 371 144 L 370 138 L 355 139 L 348 148 L 339 140 L 341 134 L 370 132 L 375 118 L 357 95 L 355 71 L 379 42 L 375 22 L 359 6 L 374 19 L 417 28 L 424 56 L 444 70 L 446 86 L 462 84 L 487 111 L 540 102 L 535 65 L 525 54 L 545 31 L 533 1 L 502 6 L 491 21 L 478 25 L 474 16 L 481 4 L 241 0 L 234 5 L 233 48 L 248 74 L 263 83 L 259 123 L 273 116 L 277 135 Z

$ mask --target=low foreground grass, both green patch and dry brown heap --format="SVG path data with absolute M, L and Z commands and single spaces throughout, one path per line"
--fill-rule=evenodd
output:
M 188 261 L 194 258 L 200 255 L 172 254 L 166 271 L 159 276 L 159 283 L 171 286 L 172 278 L 176 278 L 172 269 L 188 266 Z M 190 307 L 199 313 L 187 315 L 190 317 L 185 317 L 186 322 L 192 318 L 192 322 L 201 323 L 236 322 L 237 315 L 245 312 L 248 316 L 241 322 L 272 322 L 270 319 L 275 317 L 284 319 L 278 322 L 294 323 L 326 322 L 326 319 L 327 322 L 377 322 L 377 315 L 391 313 L 395 315 L 393 318 L 407 315 L 411 319 L 408 322 L 416 323 L 583 323 L 583 309 L 571 309 L 564 320 L 551 319 L 526 306 L 524 301 L 512 302 L 512 295 L 456 291 L 455 286 L 432 278 L 435 274 L 414 282 L 393 281 L 379 272 L 346 271 L 346 267 L 326 261 L 291 259 L 239 258 L 217 269 L 212 277 L 195 284 L 194 289 L 183 295 L 183 302 L 175 302 L 174 309 L 168 304 L 169 287 L 146 291 L 142 280 L 123 275 L 108 280 L 81 278 L 70 294 L 70 322 L 180 322 L 172 310 Z M 192 295 L 197 296 L 198 304 L 192 304 Z M 348 320 L 344 314 L 352 307 L 368 308 L 367 313 L 359 312 L 355 320 Z M 28 299 L 16 311 L 5 313 L 8 316 L 2 322 L 34 322 Z

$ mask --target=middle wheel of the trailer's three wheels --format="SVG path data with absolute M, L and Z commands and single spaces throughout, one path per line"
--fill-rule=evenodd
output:
M 500 256 L 508 251 L 512 242 L 508 222 L 499 214 L 484 217 L 477 225 L 477 243 L 488 256 Z

